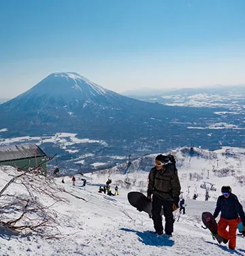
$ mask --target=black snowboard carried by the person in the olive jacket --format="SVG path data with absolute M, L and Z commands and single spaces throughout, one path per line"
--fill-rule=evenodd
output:
M 128 200 L 131 206 L 137 208 L 140 212 L 146 212 L 152 217 L 152 202 L 146 197 L 146 195 L 132 191 L 128 193 Z M 163 214 L 163 211 L 161 212 Z

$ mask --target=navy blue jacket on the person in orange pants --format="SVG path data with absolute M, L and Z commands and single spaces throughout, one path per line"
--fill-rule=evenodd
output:
M 242 204 L 240 204 L 238 197 L 233 193 L 231 193 L 228 198 L 225 198 L 224 195 L 218 197 L 213 214 L 214 218 L 218 217 L 219 212 L 221 212 L 220 217 L 223 219 L 237 219 L 239 214 L 243 225 L 245 225 L 245 214 Z

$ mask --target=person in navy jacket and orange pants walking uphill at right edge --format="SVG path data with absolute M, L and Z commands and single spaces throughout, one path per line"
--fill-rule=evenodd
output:
M 223 186 L 221 188 L 222 195 L 218 197 L 216 208 L 214 210 L 214 219 L 218 217 L 218 234 L 223 237 L 223 242 L 229 242 L 229 249 L 235 250 L 236 229 L 238 228 L 239 217 L 245 230 L 245 214 L 238 197 L 231 193 L 231 187 Z M 229 230 L 227 231 L 227 227 Z

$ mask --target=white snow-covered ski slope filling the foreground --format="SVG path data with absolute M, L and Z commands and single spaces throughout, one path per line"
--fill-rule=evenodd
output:
M 38 189 L 40 184 L 48 185 L 47 178 L 29 174 L 17 179 L 1 195 L 1 206 L 9 203 L 11 195 L 42 203 L 39 207 L 55 213 L 53 224 L 59 232 L 52 238 L 45 239 L 42 236 L 36 236 L 34 231 L 27 233 L 20 231 L 18 234 L 16 231 L 0 226 L 1 255 L 245 255 L 245 238 L 238 236 L 235 251 L 230 251 L 227 244 L 218 245 L 210 236 L 210 232 L 201 227 L 203 225 L 201 213 L 214 212 L 215 202 L 223 185 L 231 186 L 245 210 L 244 178 L 238 179 L 238 176 L 245 175 L 242 167 L 245 161 L 244 149 L 223 148 L 210 152 L 193 148 L 191 152 L 192 157 L 187 148 L 172 152 L 176 156 L 180 184 L 187 204 L 186 214 L 179 214 L 178 211 L 174 213 L 176 222 L 172 238 L 157 237 L 150 233 L 154 230 L 152 219 L 149 219 L 144 212 L 138 212 L 127 202 L 129 191 L 146 193 L 149 170 L 148 172 L 141 170 L 146 159 L 135 159 L 128 174 L 122 174 L 120 168 L 116 169 L 116 167 L 114 170 L 108 169 L 103 172 L 84 174 L 84 176 L 77 174 L 75 186 L 72 185 L 71 176 L 54 178 L 54 182 L 51 183 L 54 197 L 47 197 L 46 193 L 41 193 Z M 155 155 L 147 157 L 152 160 L 151 163 L 147 161 L 148 167 L 152 167 Z M 3 188 L 7 182 L 19 174 L 20 172 L 16 172 L 14 167 L 0 167 L 1 187 Z M 112 178 L 112 192 L 118 185 L 119 195 L 109 196 L 97 192 L 99 186 L 105 184 L 108 176 Z M 64 184 L 61 183 L 62 178 L 65 180 Z M 83 187 L 81 178 L 86 178 L 86 187 Z M 129 187 L 125 184 L 125 178 L 129 178 L 131 182 Z M 31 187 L 36 188 L 32 197 L 23 190 L 23 181 L 31 182 Z M 203 182 L 210 182 L 216 188 L 216 191 L 210 191 L 208 201 L 204 199 L 206 189 L 200 187 Z M 194 192 L 198 194 L 196 200 L 192 199 Z M 63 198 L 63 200 L 54 204 L 55 198 Z M 6 214 L 8 214 L 7 220 L 16 219 L 19 216 L 18 212 L 10 210 L 4 214 L 1 212 L 1 221 L 6 221 Z M 48 231 L 50 231 L 49 226 L 43 227 L 42 235 L 47 234 Z

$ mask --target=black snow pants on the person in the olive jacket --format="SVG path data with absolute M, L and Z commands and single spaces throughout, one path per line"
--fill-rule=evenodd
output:
M 163 231 L 163 222 L 161 217 L 161 209 L 165 217 L 165 234 L 171 235 L 174 231 L 174 214 L 173 202 L 160 199 L 156 195 L 152 196 L 152 220 L 154 229 L 159 232 Z

